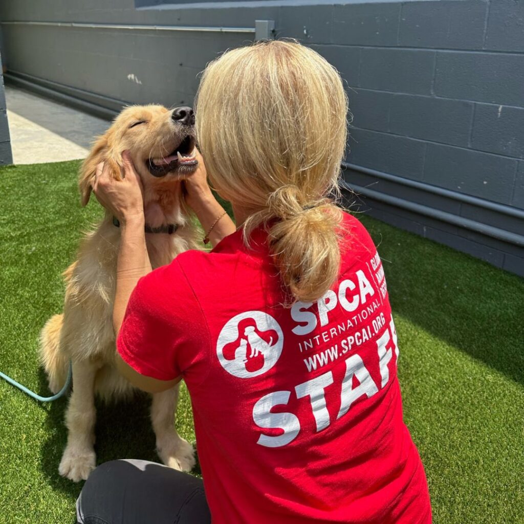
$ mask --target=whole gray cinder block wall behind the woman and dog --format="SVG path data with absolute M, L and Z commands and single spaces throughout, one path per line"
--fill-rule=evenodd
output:
M 524 0 L 5 0 L 0 20 L 10 82 L 106 116 L 191 103 L 205 64 L 274 20 L 342 73 L 360 209 L 524 274 Z M 136 27 L 154 25 L 195 29 Z

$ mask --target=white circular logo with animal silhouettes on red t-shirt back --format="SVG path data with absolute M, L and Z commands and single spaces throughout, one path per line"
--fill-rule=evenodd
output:
M 216 354 L 227 373 L 251 378 L 277 363 L 283 343 L 284 334 L 271 315 L 246 311 L 226 322 L 216 342 Z

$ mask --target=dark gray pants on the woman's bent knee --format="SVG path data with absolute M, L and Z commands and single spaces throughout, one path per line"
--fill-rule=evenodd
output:
M 141 460 L 115 460 L 91 473 L 77 524 L 210 524 L 200 478 Z

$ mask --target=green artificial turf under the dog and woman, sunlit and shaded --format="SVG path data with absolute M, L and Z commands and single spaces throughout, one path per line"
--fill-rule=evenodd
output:
M 81 232 L 79 163 L 0 168 L 0 370 L 48 395 L 38 334 L 63 301 Z M 437 524 L 524 522 L 524 281 L 361 217 L 379 244 L 400 345 L 405 419 Z M 64 398 L 44 405 L 0 380 L 0 523 L 72 523 L 81 485 L 61 478 Z M 111 423 L 110 423 L 111 421 Z M 179 432 L 194 440 L 183 389 Z M 97 460 L 157 460 L 148 401 L 99 406 Z M 198 472 L 196 472 L 198 473 Z

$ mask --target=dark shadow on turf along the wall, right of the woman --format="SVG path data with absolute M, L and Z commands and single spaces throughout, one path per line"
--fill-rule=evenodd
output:
M 357 216 L 378 246 L 394 314 L 524 384 L 524 280 Z

